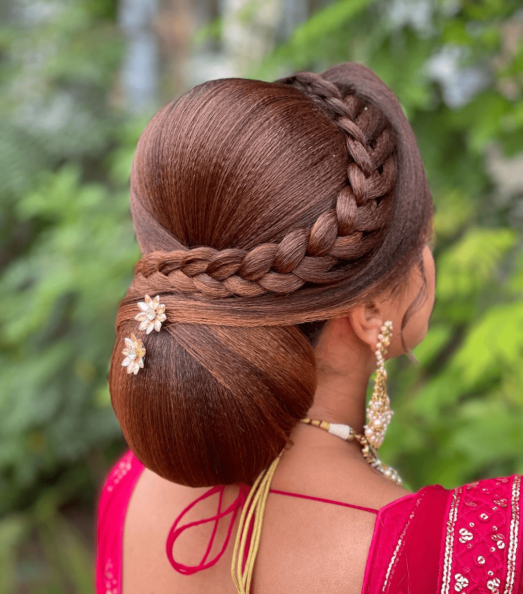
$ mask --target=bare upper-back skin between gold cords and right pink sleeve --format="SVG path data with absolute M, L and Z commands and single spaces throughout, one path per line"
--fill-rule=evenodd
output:
M 357 457 L 347 460 L 319 452 L 318 459 L 322 462 L 313 452 L 302 455 L 299 450 L 281 459 L 273 489 L 332 503 L 270 495 L 255 591 L 359 594 L 376 515 L 409 494 Z

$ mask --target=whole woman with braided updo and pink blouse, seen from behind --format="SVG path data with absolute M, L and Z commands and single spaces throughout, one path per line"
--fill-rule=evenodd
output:
M 131 208 L 109 381 L 132 452 L 97 592 L 523 592 L 519 476 L 413 494 L 376 456 L 383 362 L 426 334 L 435 270 L 416 140 L 372 72 L 195 87 L 141 135 Z

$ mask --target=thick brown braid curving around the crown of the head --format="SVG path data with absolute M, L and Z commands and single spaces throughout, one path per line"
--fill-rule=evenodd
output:
M 245 249 L 209 247 L 153 251 L 138 262 L 153 293 L 180 292 L 204 297 L 254 297 L 291 293 L 305 283 L 325 285 L 346 277 L 346 266 L 361 260 L 382 241 L 395 184 L 395 141 L 382 113 L 312 72 L 285 78 L 327 113 L 344 133 L 349 163 L 347 185 L 335 208 L 312 228 L 291 229 L 279 243 Z M 151 293 L 151 294 L 153 294 Z

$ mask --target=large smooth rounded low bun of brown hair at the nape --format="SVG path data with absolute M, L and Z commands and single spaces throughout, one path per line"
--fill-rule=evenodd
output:
M 172 324 L 144 338 L 144 369 L 134 375 L 120 362 L 135 331 L 131 322 L 118 328 L 109 381 L 138 459 L 183 485 L 252 484 L 312 404 L 306 337 L 293 326 Z

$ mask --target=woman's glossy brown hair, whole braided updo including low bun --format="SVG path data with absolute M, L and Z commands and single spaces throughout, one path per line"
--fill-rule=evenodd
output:
M 138 142 L 131 208 L 142 258 L 109 373 L 137 457 L 190 486 L 245 482 L 278 455 L 316 387 L 318 320 L 405 279 L 432 199 L 394 94 L 343 64 L 275 83 L 201 84 Z M 167 320 L 140 334 L 137 302 Z M 312 323 L 312 324 L 311 324 Z M 121 366 L 123 339 L 145 366 Z

